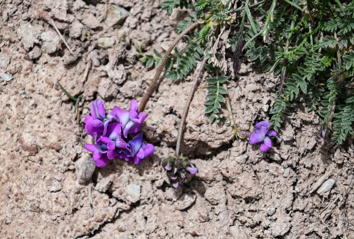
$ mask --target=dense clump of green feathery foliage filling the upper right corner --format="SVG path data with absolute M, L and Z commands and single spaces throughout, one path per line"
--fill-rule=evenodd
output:
M 246 55 L 264 72 L 281 74 L 270 123 L 278 131 L 283 113 L 292 102 L 304 98 L 307 110 L 317 113 L 321 124 L 332 124 L 332 141 L 342 143 L 348 134 L 353 135 L 354 100 L 349 86 L 354 73 L 354 3 L 313 1 L 304 6 L 302 1 L 289 2 L 278 4 L 273 13 L 259 9 L 263 19 L 273 14 L 262 32 L 269 32 L 270 43 L 265 35 L 265 46 L 257 45 L 257 32 L 247 27 L 244 32 Z

